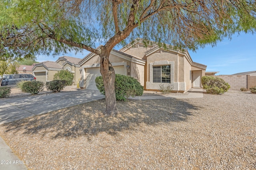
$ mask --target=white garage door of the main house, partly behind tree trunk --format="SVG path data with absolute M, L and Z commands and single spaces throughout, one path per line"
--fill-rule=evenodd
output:
M 122 74 L 125 75 L 124 72 L 124 66 L 114 66 L 114 70 L 116 74 Z M 98 90 L 95 84 L 95 79 L 98 76 L 101 76 L 100 74 L 100 67 L 96 68 L 86 68 L 86 76 L 85 76 L 85 86 L 86 89 L 89 90 Z

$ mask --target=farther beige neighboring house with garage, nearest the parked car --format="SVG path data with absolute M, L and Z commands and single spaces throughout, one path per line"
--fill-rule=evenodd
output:
M 63 67 L 54 61 L 44 61 L 36 63 L 32 68 L 33 74 L 36 77 L 36 81 L 48 82 L 53 80 L 53 76 L 59 70 L 63 70 Z

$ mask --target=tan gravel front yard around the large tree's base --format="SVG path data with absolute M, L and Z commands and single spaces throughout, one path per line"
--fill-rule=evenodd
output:
M 104 100 L 0 126 L 28 168 L 256 169 L 256 94 L 229 91 L 204 98 Z

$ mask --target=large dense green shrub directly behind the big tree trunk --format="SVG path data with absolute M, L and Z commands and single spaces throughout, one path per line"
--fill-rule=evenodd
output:
M 96 86 L 101 93 L 105 94 L 102 76 L 95 79 Z M 133 77 L 116 74 L 115 92 L 117 101 L 125 101 L 126 98 L 132 96 L 141 96 L 143 94 L 143 86 Z

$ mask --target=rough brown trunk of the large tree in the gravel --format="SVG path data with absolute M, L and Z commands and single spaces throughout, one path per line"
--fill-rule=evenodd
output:
M 116 108 L 116 93 L 115 93 L 115 71 L 112 64 L 109 62 L 110 52 L 102 50 L 100 55 L 100 73 L 102 75 L 105 100 L 106 100 L 106 116 L 115 117 L 118 113 Z

